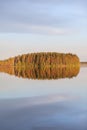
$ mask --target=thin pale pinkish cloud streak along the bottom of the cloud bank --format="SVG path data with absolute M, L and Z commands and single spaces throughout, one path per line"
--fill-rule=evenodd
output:
M 4 25 L 3 25 L 4 26 Z M 10 26 L 10 28 L 9 28 Z M 75 29 L 69 29 L 69 28 L 57 28 L 57 27 L 51 27 L 51 26 L 45 26 L 45 25 L 31 25 L 31 24 L 8 24 L 8 26 L 4 26 L 7 31 L 5 32 L 16 32 L 16 33 L 34 33 L 34 34 L 46 34 L 46 35 L 67 35 L 67 34 L 73 34 L 77 31 Z M 1 30 L 3 31 L 3 28 Z

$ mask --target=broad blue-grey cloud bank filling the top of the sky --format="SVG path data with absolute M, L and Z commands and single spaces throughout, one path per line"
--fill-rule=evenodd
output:
M 73 32 L 73 27 L 81 26 L 81 19 L 87 19 L 86 5 L 86 0 L 0 0 L 0 31 Z

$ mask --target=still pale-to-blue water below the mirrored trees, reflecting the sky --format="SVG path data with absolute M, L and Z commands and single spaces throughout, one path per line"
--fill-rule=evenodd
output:
M 0 130 L 87 130 L 87 68 L 73 78 L 0 73 Z

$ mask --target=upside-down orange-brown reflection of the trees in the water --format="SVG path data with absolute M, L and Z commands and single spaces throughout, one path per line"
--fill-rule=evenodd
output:
M 60 79 L 77 76 L 80 67 L 0 67 L 0 72 L 5 72 L 17 77 L 29 79 Z

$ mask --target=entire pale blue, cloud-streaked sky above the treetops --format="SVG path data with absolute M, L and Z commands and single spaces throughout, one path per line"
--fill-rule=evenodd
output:
M 87 0 L 0 0 L 0 59 L 42 51 L 87 61 Z

